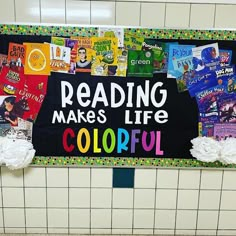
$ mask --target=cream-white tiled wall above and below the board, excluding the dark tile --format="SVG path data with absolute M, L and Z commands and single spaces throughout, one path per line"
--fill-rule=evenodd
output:
M 0 23 L 236 27 L 236 4 L 192 2 L 0 0 Z M 111 168 L 1 167 L 0 233 L 236 235 L 235 177 L 136 169 L 134 189 L 112 189 Z

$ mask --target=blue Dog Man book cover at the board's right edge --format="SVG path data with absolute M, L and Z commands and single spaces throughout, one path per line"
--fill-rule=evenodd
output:
M 224 85 L 227 88 L 228 93 L 236 92 L 236 74 L 234 65 L 222 67 L 214 72 L 219 85 Z

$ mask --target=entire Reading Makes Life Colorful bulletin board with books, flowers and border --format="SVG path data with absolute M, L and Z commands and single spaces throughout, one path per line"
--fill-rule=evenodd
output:
M 234 37 L 0 25 L 0 163 L 235 167 Z

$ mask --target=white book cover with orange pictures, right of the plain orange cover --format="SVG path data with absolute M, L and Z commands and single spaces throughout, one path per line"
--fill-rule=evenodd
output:
M 71 49 L 55 44 L 50 45 L 50 68 L 52 72 L 69 73 L 71 72 L 70 58 Z M 74 68 L 75 69 L 75 68 Z M 72 73 L 73 73 L 72 68 Z

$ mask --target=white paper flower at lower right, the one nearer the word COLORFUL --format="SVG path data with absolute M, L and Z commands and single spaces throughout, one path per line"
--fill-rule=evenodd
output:
M 191 140 L 190 153 L 199 161 L 214 162 L 220 159 L 221 143 L 209 137 L 197 137 Z

